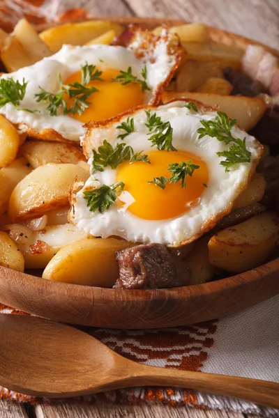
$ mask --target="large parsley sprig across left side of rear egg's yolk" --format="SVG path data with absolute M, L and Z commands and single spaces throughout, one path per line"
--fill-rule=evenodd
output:
M 88 84 L 91 80 L 102 80 L 100 75 L 101 71 L 96 70 L 95 65 L 85 65 L 81 66 L 82 70 L 82 83 L 74 82 L 70 84 L 63 84 L 61 74 L 59 73 L 59 89 L 54 93 L 45 91 L 40 87 L 40 93 L 35 94 L 36 102 L 49 102 L 47 105 L 47 110 L 50 112 L 51 116 L 57 116 L 57 111 L 59 107 L 62 107 L 63 114 L 82 114 L 84 110 L 89 107 L 90 102 L 87 101 L 89 96 L 92 93 L 98 91 L 98 88 L 94 86 L 86 87 L 85 84 Z M 74 99 L 73 106 L 68 107 L 66 98 Z

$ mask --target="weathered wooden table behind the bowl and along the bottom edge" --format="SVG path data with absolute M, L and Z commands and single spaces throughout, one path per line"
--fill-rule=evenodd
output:
M 279 49 L 279 0 L 63 0 L 96 16 L 167 17 L 204 22 Z M 17 405 L 0 401 L 0 418 L 256 418 L 218 410 L 163 405 Z M 257 417 L 259 417 L 257 415 Z

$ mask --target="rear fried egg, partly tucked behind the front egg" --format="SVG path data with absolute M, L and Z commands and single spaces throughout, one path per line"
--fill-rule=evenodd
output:
M 160 92 L 179 64 L 180 48 L 179 41 L 174 45 L 167 31 L 163 31 L 161 36 L 155 36 L 140 29 L 134 31 L 128 48 L 110 45 L 63 45 L 59 52 L 34 65 L 1 76 L 3 79 L 11 77 L 21 83 L 24 79 L 28 84 L 20 106 L 15 107 L 8 102 L 1 107 L 0 114 L 31 137 L 80 141 L 86 122 L 103 121 L 141 104 L 158 104 Z M 87 98 L 89 107 L 82 114 L 73 115 L 63 114 L 60 107 L 57 116 L 51 116 L 47 110 L 49 102 L 37 102 L 35 95 L 40 93 L 40 88 L 56 94 L 59 91 L 59 74 L 63 84 L 81 82 L 81 66 L 86 63 L 95 65 L 102 72 L 102 81 L 92 80 L 86 84 L 98 88 L 98 91 Z M 128 68 L 131 68 L 134 77 L 141 80 L 142 71 L 146 69 L 149 90 L 142 91 L 141 84 L 137 82 L 125 85 L 112 82 L 121 71 L 127 72 Z M 67 107 L 73 105 L 73 99 L 66 97 L 65 100 Z

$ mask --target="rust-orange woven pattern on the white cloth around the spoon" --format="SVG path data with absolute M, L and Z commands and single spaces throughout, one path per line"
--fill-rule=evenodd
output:
M 0 304 L 0 314 L 24 314 L 24 312 Z M 217 322 L 217 320 L 212 320 L 198 325 L 163 330 L 99 330 L 89 327 L 84 327 L 82 330 L 103 341 L 116 353 L 135 362 L 170 369 L 201 371 L 208 355 L 207 350 L 213 345 Z M 47 401 L 17 394 L 1 387 L 0 398 L 32 403 Z M 79 400 L 123 403 L 137 403 L 140 400 L 146 400 L 166 405 L 185 405 L 186 403 L 195 405 L 195 394 L 190 389 L 146 387 L 121 389 L 105 394 L 86 396 L 86 398 L 79 398 Z

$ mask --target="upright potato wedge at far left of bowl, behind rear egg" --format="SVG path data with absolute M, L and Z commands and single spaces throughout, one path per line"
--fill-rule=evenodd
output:
M 26 19 L 17 22 L 13 29 L 13 36 L 24 47 L 33 63 L 40 61 L 45 56 L 52 55 L 50 48 L 41 40 L 36 29 Z

